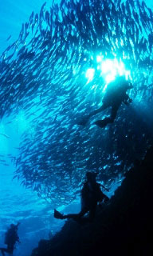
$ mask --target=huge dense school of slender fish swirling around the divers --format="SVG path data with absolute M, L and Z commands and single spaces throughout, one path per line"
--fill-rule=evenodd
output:
M 122 106 L 107 129 L 83 129 L 77 120 L 102 99 L 100 74 L 85 78 L 100 53 L 124 60 L 135 86 L 131 97 L 152 101 L 152 31 L 151 9 L 134 0 L 61 0 L 31 14 L 0 63 L 0 117 L 23 110 L 31 127 L 22 136 L 15 175 L 25 186 L 67 204 L 86 170 L 98 171 L 110 186 L 143 157 L 151 136 L 132 106 Z

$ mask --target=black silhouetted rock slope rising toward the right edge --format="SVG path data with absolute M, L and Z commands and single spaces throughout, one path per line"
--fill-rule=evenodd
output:
M 133 167 L 95 221 L 68 221 L 50 241 L 41 240 L 32 256 L 153 255 L 153 147 Z

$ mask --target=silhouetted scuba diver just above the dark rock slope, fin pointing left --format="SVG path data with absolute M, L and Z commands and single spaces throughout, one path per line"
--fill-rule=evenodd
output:
M 108 202 L 109 198 L 100 190 L 100 183 L 96 182 L 96 173 L 87 172 L 86 182 L 81 190 L 81 210 L 79 214 L 61 214 L 54 210 L 54 217 L 59 219 L 73 218 L 73 220 L 84 223 L 92 222 L 96 214 L 97 203 Z M 82 218 L 89 212 L 88 217 Z

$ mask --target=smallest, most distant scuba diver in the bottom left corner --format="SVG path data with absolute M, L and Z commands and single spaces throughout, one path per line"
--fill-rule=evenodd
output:
M 7 254 L 13 254 L 15 243 L 20 242 L 18 238 L 18 232 L 17 232 L 19 224 L 20 224 L 19 222 L 17 225 L 11 224 L 10 228 L 6 231 L 5 244 L 7 245 L 7 248 L 0 248 L 2 252 L 2 256 L 5 256 L 5 252 Z

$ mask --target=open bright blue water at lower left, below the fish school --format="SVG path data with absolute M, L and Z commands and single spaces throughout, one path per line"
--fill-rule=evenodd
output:
M 6 122 L 3 120 L 0 125 L 0 244 L 3 245 L 4 234 L 10 223 L 21 222 L 18 229 L 21 244 L 14 250 L 14 255 L 26 256 L 41 238 L 49 238 L 50 231 L 55 233 L 59 230 L 61 223 L 54 220 L 49 204 L 13 179 L 14 157 L 18 154 L 17 148 L 26 122 L 22 116 L 14 120 L 8 118 Z

